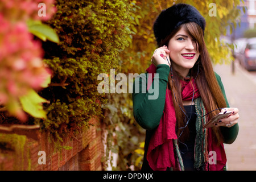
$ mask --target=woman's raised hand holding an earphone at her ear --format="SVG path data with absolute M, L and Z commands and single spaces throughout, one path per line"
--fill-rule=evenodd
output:
M 170 56 L 169 56 L 169 49 L 167 46 L 159 47 L 158 49 L 155 49 L 155 52 L 153 53 L 151 57 L 151 62 L 157 67 L 159 64 L 166 64 L 170 67 Z

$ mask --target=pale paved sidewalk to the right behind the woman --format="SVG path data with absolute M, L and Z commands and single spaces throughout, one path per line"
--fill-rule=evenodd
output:
M 256 82 L 238 64 L 234 75 L 231 65 L 214 65 L 214 71 L 221 76 L 230 107 L 237 107 L 240 115 L 236 141 L 224 145 L 227 169 L 256 170 Z

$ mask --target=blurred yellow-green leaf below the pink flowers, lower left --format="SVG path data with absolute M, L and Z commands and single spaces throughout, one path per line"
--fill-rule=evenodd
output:
M 28 91 L 26 96 L 19 98 L 22 109 L 35 118 L 46 118 L 46 112 L 43 110 L 42 102 L 48 102 L 40 97 L 35 90 Z

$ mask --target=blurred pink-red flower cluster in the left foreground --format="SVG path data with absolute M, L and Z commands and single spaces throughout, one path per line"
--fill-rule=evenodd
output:
M 45 17 L 38 16 L 39 2 L 49 7 Z M 55 12 L 53 2 L 0 2 L 0 105 L 20 121 L 27 119 L 20 97 L 43 88 L 51 76 L 43 63 L 42 45 L 34 40 L 27 21 L 50 19 Z

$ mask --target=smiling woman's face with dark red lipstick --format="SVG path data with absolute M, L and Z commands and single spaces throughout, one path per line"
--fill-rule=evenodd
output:
M 180 73 L 181 76 L 187 76 L 200 53 L 195 40 L 184 30 L 183 27 L 170 39 L 168 43 L 172 68 Z

